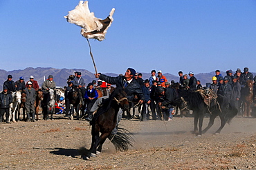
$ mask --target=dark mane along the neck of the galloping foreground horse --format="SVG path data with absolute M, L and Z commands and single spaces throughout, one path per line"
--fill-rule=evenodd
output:
M 99 107 L 97 114 L 103 114 L 104 112 L 108 111 L 111 107 L 111 103 L 113 102 L 113 99 L 116 97 L 116 95 L 118 93 L 122 92 L 122 88 L 116 88 L 113 90 L 113 92 L 110 94 L 109 98 L 106 98 L 103 103 L 102 106 Z

